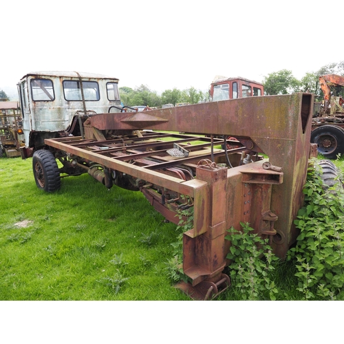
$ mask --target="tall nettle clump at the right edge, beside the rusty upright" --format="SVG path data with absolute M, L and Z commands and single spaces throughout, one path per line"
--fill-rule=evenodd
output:
M 329 171 L 339 174 L 338 169 L 322 161 L 325 164 L 313 160 L 309 166 L 304 206 L 294 221 L 300 235 L 288 260 L 295 263 L 297 290 L 305 299 L 335 300 L 344 296 L 344 196 L 339 179 L 326 182 Z

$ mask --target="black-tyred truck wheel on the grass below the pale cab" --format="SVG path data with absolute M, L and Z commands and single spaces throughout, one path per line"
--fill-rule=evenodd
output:
M 53 192 L 60 189 L 61 178 L 57 162 L 51 151 L 40 149 L 32 157 L 34 180 L 39 189 Z

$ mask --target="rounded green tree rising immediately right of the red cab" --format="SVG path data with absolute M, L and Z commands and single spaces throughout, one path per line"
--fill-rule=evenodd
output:
M 287 69 L 264 76 L 263 84 L 267 95 L 290 94 L 299 91 L 300 87 L 299 80 L 292 75 L 292 71 Z

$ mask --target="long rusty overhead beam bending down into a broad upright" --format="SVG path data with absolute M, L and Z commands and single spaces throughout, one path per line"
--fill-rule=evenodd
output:
M 149 113 L 150 116 L 165 119 L 159 123 L 157 120 L 158 124 L 152 129 L 250 139 L 254 147 L 259 147 L 268 155 L 271 164 L 283 169 L 283 184 L 272 186 L 271 211 L 279 219 L 275 237 L 280 238 L 279 241 L 274 239 L 272 246 L 279 257 L 285 257 L 298 235 L 293 222 L 303 203 L 302 188 L 307 175 L 313 101 L 312 94 L 250 97 L 151 110 Z M 104 125 L 103 119 L 103 115 L 92 117 L 92 125 Z M 131 116 L 107 117 L 106 121 L 107 128 L 144 127 L 143 120 L 140 122 Z

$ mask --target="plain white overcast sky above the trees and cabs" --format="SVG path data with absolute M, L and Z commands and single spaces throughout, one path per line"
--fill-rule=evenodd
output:
M 325 3 L 324 3 L 325 5 Z M 114 76 L 120 86 L 206 90 L 216 75 L 297 78 L 344 60 L 344 1 L 6 1 L 0 89 L 28 72 Z

